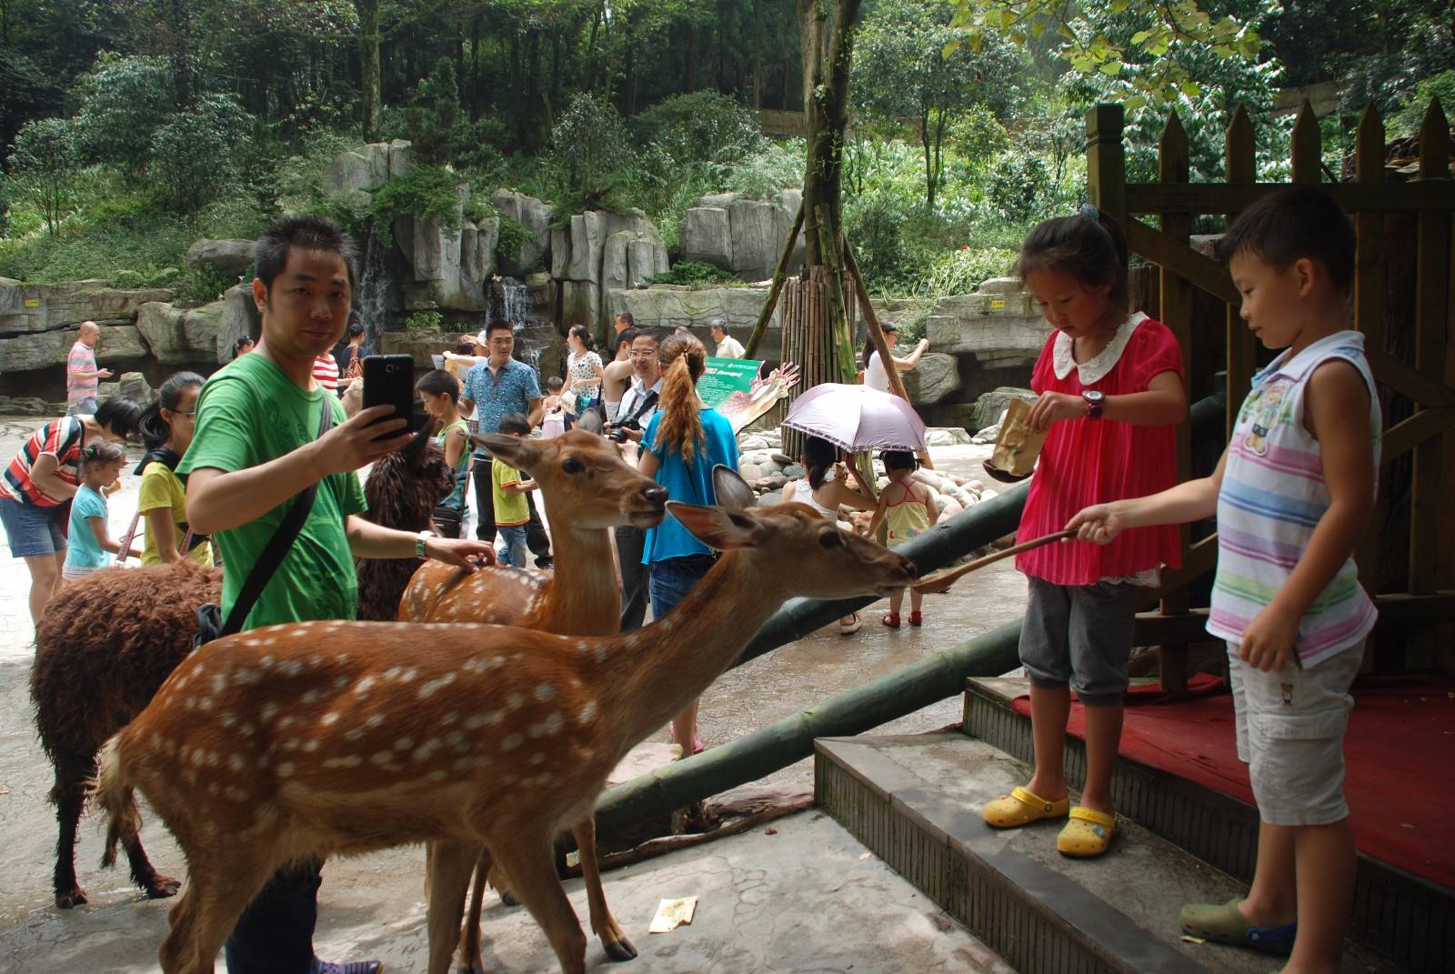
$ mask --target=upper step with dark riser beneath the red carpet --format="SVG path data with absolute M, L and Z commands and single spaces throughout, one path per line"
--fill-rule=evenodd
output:
M 965 732 L 1032 761 L 1030 718 L 1011 709 L 1026 692 L 1024 680 L 969 680 Z M 1067 740 L 1065 766 L 1071 786 L 1080 789 L 1081 741 Z M 1128 757 L 1116 761 L 1112 796 L 1119 815 L 1235 878 L 1240 891 L 1253 881 L 1259 847 L 1253 805 Z M 1349 936 L 1410 971 L 1455 971 L 1455 890 L 1360 853 Z

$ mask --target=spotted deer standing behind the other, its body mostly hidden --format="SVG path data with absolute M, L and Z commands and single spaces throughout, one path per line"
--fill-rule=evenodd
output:
M 399 606 L 404 622 L 486 622 L 567 636 L 605 636 L 621 622 L 621 593 L 611 558 L 611 527 L 655 527 L 665 514 L 666 488 L 621 460 L 607 440 L 570 431 L 554 440 L 474 437 L 492 456 L 525 470 L 540 485 L 556 549 L 554 572 L 483 568 L 463 572 L 439 562 L 423 565 Z M 636 948 L 607 906 L 597 869 L 597 827 L 588 815 L 570 823 L 581 850 L 591 906 L 591 929 L 614 961 Z M 431 868 L 436 856 L 431 850 Z M 479 855 L 476 856 L 479 859 Z M 483 863 L 482 863 L 483 865 Z M 470 910 L 460 935 L 460 968 L 483 974 L 480 913 L 486 869 L 476 872 Z

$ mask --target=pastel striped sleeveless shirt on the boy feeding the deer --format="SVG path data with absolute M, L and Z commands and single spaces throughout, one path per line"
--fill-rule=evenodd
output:
M 1253 377 L 1218 494 L 1218 575 L 1208 632 L 1219 639 L 1243 641 L 1243 630 L 1273 601 L 1328 511 L 1323 453 L 1304 425 L 1304 396 L 1310 376 L 1331 358 L 1350 363 L 1369 386 L 1371 476 L 1378 479 L 1382 419 L 1363 335 L 1336 332 L 1298 355 L 1283 352 Z M 1293 649 L 1299 662 L 1312 667 L 1358 645 L 1376 614 L 1347 558 L 1298 623 Z

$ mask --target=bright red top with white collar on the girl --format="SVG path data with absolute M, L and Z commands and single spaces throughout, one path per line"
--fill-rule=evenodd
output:
M 1183 376 L 1177 339 L 1165 325 L 1142 313 L 1132 314 L 1091 361 L 1077 364 L 1071 344 L 1059 330 L 1051 336 L 1032 371 L 1032 390 L 1080 396 L 1083 389 L 1100 389 L 1107 396 L 1122 396 L 1147 392 L 1161 373 Z M 1091 504 L 1145 496 L 1176 485 L 1176 427 L 1133 427 L 1084 416 L 1058 421 L 1040 450 L 1016 540 L 1059 531 Z M 1017 569 L 1055 585 L 1093 585 L 1163 565 L 1181 566 L 1176 524 L 1122 531 L 1104 546 L 1065 542 L 1016 556 Z

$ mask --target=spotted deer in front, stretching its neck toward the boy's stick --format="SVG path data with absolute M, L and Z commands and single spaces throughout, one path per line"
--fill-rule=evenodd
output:
M 435 843 L 431 974 L 448 970 L 480 846 L 562 970 L 582 974 L 586 938 L 556 878 L 556 831 L 589 815 L 617 761 L 706 690 L 783 600 L 880 597 L 914 578 L 902 556 L 799 504 L 668 508 L 723 556 L 646 629 L 314 622 L 220 639 L 178 667 L 108 741 L 96 786 L 108 846 L 135 834 L 141 789 L 195 866 L 162 945 L 164 974 L 210 973 L 279 865 L 412 842 Z M 320 652 L 322 641 L 340 651 Z

